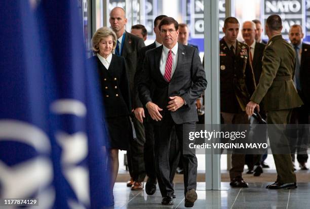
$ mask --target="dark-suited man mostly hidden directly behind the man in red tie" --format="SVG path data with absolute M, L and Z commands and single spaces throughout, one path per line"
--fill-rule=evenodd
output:
M 139 65 L 137 66 L 137 72 L 135 75 L 135 91 L 138 92 L 138 86 L 136 85 L 139 81 L 139 76 L 141 74 L 142 70 L 142 64 L 145 58 L 145 53 L 148 50 L 155 49 L 157 47 L 162 46 L 163 40 L 160 35 L 160 30 L 159 30 L 159 24 L 163 18 L 167 17 L 166 15 L 160 15 L 155 18 L 154 20 L 154 33 L 156 35 L 156 39 L 154 43 L 143 47 L 140 52 L 139 52 Z M 136 103 L 134 104 L 134 108 L 143 108 L 142 103 L 140 100 L 136 100 Z M 155 153 L 154 153 L 154 134 L 153 134 L 153 125 L 149 121 L 151 118 L 148 118 L 148 114 L 146 109 L 141 109 L 140 112 L 136 111 L 135 112 L 136 118 L 140 121 L 143 122 L 144 125 L 144 131 L 145 131 L 145 144 L 144 144 L 144 163 L 145 163 L 145 171 L 147 175 L 147 182 L 145 184 L 145 192 L 148 195 L 152 195 L 156 192 L 156 184 L 157 184 L 157 179 L 156 179 L 156 170 L 155 170 Z M 146 119 L 143 119 L 145 118 Z M 171 161 L 174 161 L 174 158 L 171 158 Z M 174 177 L 174 175 L 173 175 Z M 172 180 L 173 180 L 172 177 Z

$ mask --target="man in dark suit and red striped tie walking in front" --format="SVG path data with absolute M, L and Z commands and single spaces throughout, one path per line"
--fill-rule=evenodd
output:
M 159 28 L 163 46 L 145 54 L 139 96 L 154 124 L 156 172 L 162 204 L 173 204 L 174 190 L 167 159 L 170 133 L 175 127 L 184 163 L 185 207 L 191 207 L 197 199 L 197 158 L 195 150 L 184 144 L 188 142 L 188 133 L 196 129 L 195 101 L 206 89 L 207 80 L 197 49 L 177 43 L 177 21 L 166 17 Z

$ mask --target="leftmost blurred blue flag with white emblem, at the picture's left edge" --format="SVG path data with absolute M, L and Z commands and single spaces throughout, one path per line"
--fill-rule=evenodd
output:
M 0 18 L 0 199 L 38 198 L 52 208 L 48 104 L 29 2 L 2 1 Z

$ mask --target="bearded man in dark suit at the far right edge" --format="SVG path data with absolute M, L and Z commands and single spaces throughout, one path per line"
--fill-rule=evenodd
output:
M 309 123 L 310 45 L 302 43 L 303 33 L 300 25 L 291 26 L 289 38 L 296 52 L 295 87 L 303 101 L 303 105 L 293 109 L 291 116 L 292 124 L 300 124 L 299 127 L 297 126 L 295 136 L 291 140 L 292 160 L 295 160 L 295 152 L 297 150 L 300 170 L 308 170 L 305 163 L 308 159 L 307 144 L 309 133 L 306 129 L 307 127 L 302 124 Z

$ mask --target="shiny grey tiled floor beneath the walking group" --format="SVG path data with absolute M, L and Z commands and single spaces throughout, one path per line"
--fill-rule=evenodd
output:
M 221 190 L 205 190 L 205 183 L 197 184 L 198 199 L 193 208 L 310 208 L 310 183 L 299 183 L 295 190 L 268 190 L 267 183 L 249 183 L 249 188 L 233 189 L 221 183 Z M 126 183 L 114 187 L 114 208 L 185 208 L 183 184 L 175 184 L 176 199 L 173 206 L 161 204 L 159 188 L 151 196 L 144 190 L 131 191 Z

